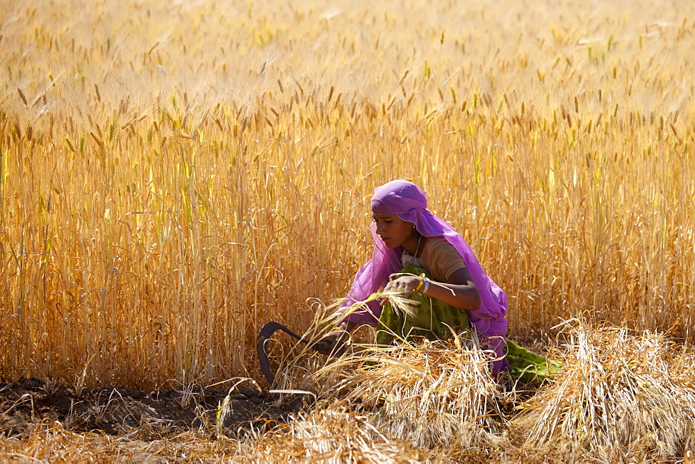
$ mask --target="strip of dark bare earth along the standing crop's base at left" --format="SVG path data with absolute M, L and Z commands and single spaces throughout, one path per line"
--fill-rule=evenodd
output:
M 142 392 L 121 386 L 84 388 L 78 395 L 74 388 L 42 379 L 0 382 L 0 436 L 21 438 L 33 424 L 54 421 L 72 431 L 103 431 L 113 436 L 133 431 L 166 436 L 192 430 L 243 436 L 252 427 L 268 429 L 287 422 L 303 401 L 237 387 L 229 393 L 228 413 L 218 429 L 218 406 L 228 393 L 210 387 Z

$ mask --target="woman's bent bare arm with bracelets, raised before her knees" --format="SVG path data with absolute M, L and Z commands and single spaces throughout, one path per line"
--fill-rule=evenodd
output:
M 423 291 L 424 279 L 417 276 L 402 276 L 386 284 L 386 290 L 415 290 Z M 434 282 L 430 279 L 427 295 L 439 299 L 455 308 L 476 310 L 480 307 L 480 293 L 478 293 L 471 272 L 463 267 L 449 276 L 448 282 Z M 422 283 L 423 285 L 420 285 Z M 388 301 L 384 302 L 386 304 Z

